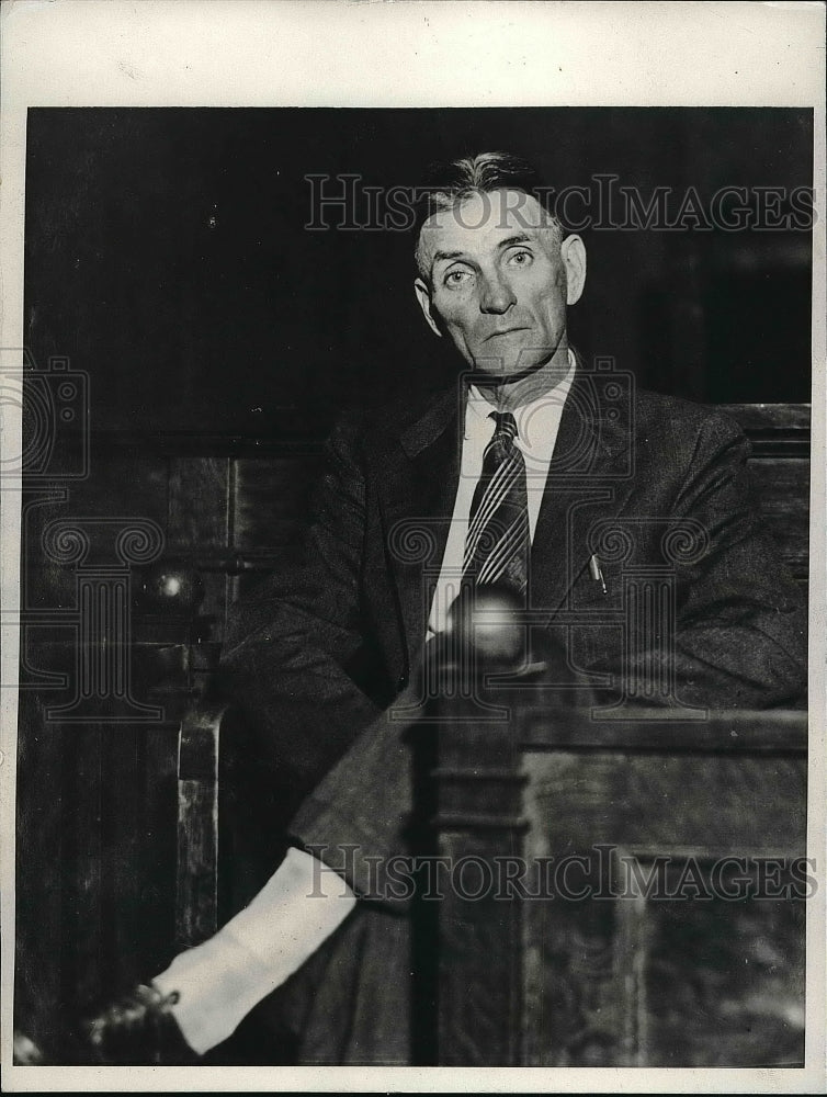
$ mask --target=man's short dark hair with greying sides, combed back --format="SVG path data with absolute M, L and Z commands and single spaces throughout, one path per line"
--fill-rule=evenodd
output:
M 422 248 L 422 226 L 428 218 L 442 210 L 455 208 L 474 194 L 498 190 L 523 191 L 536 199 L 544 211 L 546 224 L 559 240 L 563 239 L 564 228 L 548 208 L 552 192 L 543 184 L 536 168 L 522 157 L 512 152 L 478 152 L 458 160 L 433 163 L 420 188 L 415 223 L 417 268 L 427 282 L 430 283 L 430 271 Z

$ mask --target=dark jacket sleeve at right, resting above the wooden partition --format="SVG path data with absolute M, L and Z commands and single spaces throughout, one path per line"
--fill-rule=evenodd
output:
M 709 708 L 794 704 L 806 690 L 806 606 L 767 534 L 747 467 L 750 444 L 724 416 L 707 419 L 670 517 L 700 531 L 675 546 L 676 630 L 611 669 L 626 686 L 673 668 L 678 698 Z M 664 643 L 664 640 L 667 643 Z

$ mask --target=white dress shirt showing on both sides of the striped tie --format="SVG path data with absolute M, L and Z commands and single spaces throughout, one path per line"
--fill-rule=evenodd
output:
M 516 445 L 525 460 L 525 486 L 529 501 L 529 533 L 534 540 L 540 505 L 543 501 L 548 465 L 552 462 L 557 432 L 571 381 L 575 375 L 575 357 L 568 352 L 568 373 L 550 392 L 531 404 L 514 410 L 517 421 Z M 497 408 L 472 385 L 465 406 L 465 431 L 460 463 L 460 486 L 454 502 L 454 512 L 442 557 L 442 567 L 433 592 L 431 613 L 428 619 L 428 640 L 445 627 L 445 618 L 454 598 L 460 592 L 460 580 L 465 554 L 465 538 L 468 532 L 471 504 L 479 477 L 483 473 L 485 448 L 490 442 L 495 423 L 490 418 Z

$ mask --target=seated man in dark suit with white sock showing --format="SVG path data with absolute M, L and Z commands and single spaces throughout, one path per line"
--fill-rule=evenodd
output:
M 290 851 L 213 940 L 98 1019 L 104 1058 L 172 1017 L 204 1053 L 279 988 L 299 1061 L 410 1061 L 407 909 L 382 887 L 364 900 L 411 808 L 394 715 L 461 589 L 507 585 L 584 689 L 732 708 L 804 689 L 802 600 L 750 502 L 745 439 L 680 400 L 625 398 L 577 360 L 566 315 L 586 250 L 532 169 L 503 154 L 441 169 L 416 258 L 426 321 L 466 369 L 342 420 L 306 565 L 239 606 L 225 646 L 256 765 L 293 815 Z M 618 618 L 630 566 L 669 572 L 673 634 Z

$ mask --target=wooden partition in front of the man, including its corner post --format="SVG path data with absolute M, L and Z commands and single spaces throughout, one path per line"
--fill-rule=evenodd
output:
M 505 722 L 508 734 L 473 720 L 439 726 L 440 853 L 476 856 L 495 879 L 518 855 L 523 872 L 496 902 L 442 903 L 440 1062 L 798 1062 L 804 939 L 791 862 L 805 852 L 806 713 L 613 724 L 554 719 L 534 702 Z M 509 738 L 529 747 L 522 773 Z M 738 902 L 723 892 L 725 856 L 748 859 Z M 751 897 L 760 858 L 786 859 L 781 903 Z M 764 893 L 772 870 L 768 880 Z M 736 971 L 745 958 L 754 970 Z M 522 1008 L 508 994 L 514 974 Z

